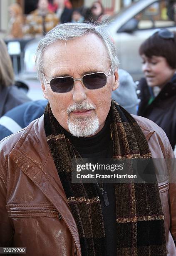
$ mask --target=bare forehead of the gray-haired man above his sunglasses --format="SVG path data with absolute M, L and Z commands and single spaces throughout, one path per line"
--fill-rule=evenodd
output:
M 55 41 L 45 49 L 43 54 L 45 69 L 53 63 L 70 63 L 73 65 L 86 65 L 101 62 L 106 65 L 108 61 L 107 49 L 104 42 L 94 33 L 77 37 L 67 41 Z

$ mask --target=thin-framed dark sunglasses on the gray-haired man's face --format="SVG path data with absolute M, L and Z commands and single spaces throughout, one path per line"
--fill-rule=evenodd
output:
M 96 90 L 104 87 L 107 84 L 107 77 L 110 76 L 111 68 L 107 75 L 103 72 L 96 72 L 86 74 L 82 77 L 82 79 L 74 79 L 73 77 L 55 77 L 52 78 L 50 82 L 47 82 L 46 78 L 45 81 L 47 84 L 50 84 L 51 90 L 53 92 L 58 93 L 70 92 L 74 87 L 75 81 L 82 81 L 84 86 L 89 90 Z

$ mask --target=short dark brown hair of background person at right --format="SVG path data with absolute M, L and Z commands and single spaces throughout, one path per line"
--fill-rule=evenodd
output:
M 173 69 L 176 68 L 176 32 L 174 38 L 161 38 L 156 32 L 146 39 L 139 47 L 139 54 L 145 54 L 148 58 L 162 56 Z

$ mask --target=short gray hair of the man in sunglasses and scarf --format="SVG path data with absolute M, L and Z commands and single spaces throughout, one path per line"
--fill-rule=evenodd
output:
M 117 52 L 115 46 L 107 33 L 106 25 L 100 24 L 95 25 L 92 23 L 64 23 L 59 24 L 51 31 L 49 31 L 44 38 L 42 38 L 37 47 L 35 55 L 35 63 L 37 69 L 37 75 L 41 82 L 43 81 L 44 73 L 44 61 L 43 54 L 47 47 L 54 43 L 57 40 L 67 41 L 74 38 L 84 36 L 89 33 L 95 33 L 104 43 L 104 46 L 107 50 L 108 59 L 112 65 L 112 73 L 118 68 L 119 60 L 117 57 Z

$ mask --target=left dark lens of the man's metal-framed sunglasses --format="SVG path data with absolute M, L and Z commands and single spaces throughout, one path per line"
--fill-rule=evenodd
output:
M 53 92 L 70 92 L 73 88 L 73 78 L 72 77 L 61 77 L 53 78 L 50 81 L 50 86 Z

